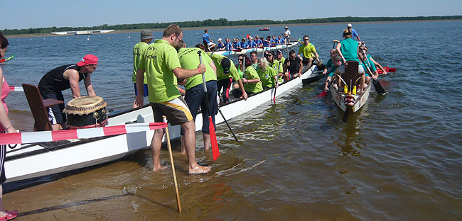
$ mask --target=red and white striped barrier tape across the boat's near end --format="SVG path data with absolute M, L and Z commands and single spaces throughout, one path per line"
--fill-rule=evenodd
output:
M 166 127 L 167 123 L 134 123 L 129 125 L 108 126 L 104 128 L 4 133 L 0 134 L 0 145 L 28 144 L 35 142 L 123 135 L 131 132 L 142 132 Z

